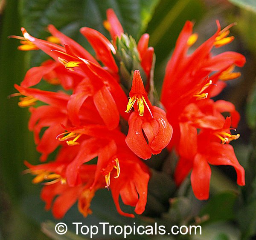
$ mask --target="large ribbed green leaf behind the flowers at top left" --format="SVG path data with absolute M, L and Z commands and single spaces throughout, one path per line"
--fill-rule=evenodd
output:
M 35 37 L 44 39 L 49 36 L 46 27 L 55 27 L 78 41 L 91 51 L 89 43 L 79 33 L 87 26 L 109 37 L 103 27 L 106 9 L 112 8 L 123 29 L 138 39 L 151 19 L 152 12 L 159 0 L 23 0 L 23 26 Z M 33 65 L 39 65 L 46 59 L 45 54 L 36 52 L 32 55 Z

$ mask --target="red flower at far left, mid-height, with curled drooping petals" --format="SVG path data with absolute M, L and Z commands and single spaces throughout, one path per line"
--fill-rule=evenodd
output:
M 23 97 L 20 106 L 32 106 L 37 100 L 49 105 L 30 108 L 31 117 L 29 120 L 29 130 L 34 131 L 34 139 L 37 151 L 42 153 L 41 160 L 47 160 L 48 155 L 60 144 L 55 137 L 63 131 L 60 124 L 67 125 L 67 102 L 69 95 L 60 92 L 42 91 L 39 89 L 26 89 L 15 85 L 15 88 L 27 97 Z M 41 129 L 49 127 L 44 131 L 43 136 L 39 137 Z

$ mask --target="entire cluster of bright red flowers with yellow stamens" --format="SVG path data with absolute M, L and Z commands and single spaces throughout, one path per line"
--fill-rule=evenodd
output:
M 120 214 L 134 217 L 120 209 L 119 196 L 142 214 L 150 177 L 142 159 L 173 146 L 180 156 L 176 182 L 180 184 L 192 169 L 192 188 L 199 199 L 208 198 L 208 163 L 234 166 L 238 184 L 244 185 L 244 169 L 228 144 L 239 134 L 230 134 L 231 118 L 225 120 L 221 113 L 230 112 L 234 127 L 239 114 L 233 104 L 207 98 L 221 91 L 221 80 L 238 77 L 238 73 L 231 72 L 233 66 L 243 66 L 245 62 L 235 52 L 211 55 L 213 46 L 232 40 L 227 37 L 228 28 L 220 30 L 218 24 L 218 31 L 187 55 L 197 35 L 192 34 L 192 23 L 186 23 L 166 68 L 163 110 L 148 98 L 154 56 L 154 49 L 148 47 L 149 35 L 144 34 L 136 45 L 124 34 L 112 9 L 108 9 L 104 25 L 112 42 L 94 29 L 80 30 L 96 58 L 52 25 L 48 26 L 52 34 L 48 40 L 32 37 L 24 28 L 23 37 L 13 36 L 21 40 L 20 50 L 41 49 L 52 57 L 29 69 L 20 86 L 15 85 L 26 96 L 20 97 L 19 106 L 30 107 L 29 130 L 34 132 L 41 161 L 58 148 L 54 161 L 37 166 L 25 162 L 27 171 L 36 175 L 33 182 L 45 182 L 41 198 L 46 209 L 52 208 L 53 215 L 61 218 L 78 200 L 79 211 L 87 216 L 92 212 L 90 202 L 95 192 L 106 187 Z M 125 45 L 127 41 L 131 44 Z M 121 44 L 127 49 L 122 47 L 120 51 Z M 135 49 L 129 49 L 132 44 Z M 133 69 L 136 64 L 131 63 L 136 56 L 140 71 Z M 59 85 L 62 91 L 31 88 L 41 79 Z M 37 101 L 45 105 L 33 106 Z

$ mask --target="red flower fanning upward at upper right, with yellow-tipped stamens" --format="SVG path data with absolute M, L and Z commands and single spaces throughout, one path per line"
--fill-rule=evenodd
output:
M 241 67 L 245 63 L 243 55 L 232 51 L 212 57 L 210 52 L 212 47 L 219 41 L 219 37 L 223 36 L 223 30 L 220 30 L 218 22 L 216 33 L 191 55 L 187 55 L 189 47 L 197 39 L 196 35 L 192 34 L 192 26 L 192 22 L 186 22 L 178 37 L 172 58 L 166 66 L 161 102 L 168 111 L 172 112 L 172 117 L 176 117 L 177 113 L 179 114 L 186 104 L 193 99 L 193 96 L 201 91 L 202 87 L 207 84 L 205 82 L 207 76 L 213 71 L 217 71 L 216 74 L 219 77 L 210 77 L 210 79 L 212 83 L 217 83 L 218 79 L 221 79 L 221 73 L 227 71 L 230 66 L 236 65 Z M 228 43 L 228 41 L 224 41 L 225 38 L 222 40 L 223 45 Z M 211 88 L 214 88 L 214 86 Z M 204 96 L 204 91 L 200 94 Z M 184 98 L 186 101 L 183 100 Z M 174 116 L 173 113 L 175 113 Z

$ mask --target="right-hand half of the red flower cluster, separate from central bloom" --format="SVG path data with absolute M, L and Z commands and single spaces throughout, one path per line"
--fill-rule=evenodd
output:
M 189 47 L 197 40 L 197 34 L 192 34 L 193 24 L 186 22 L 167 64 L 161 94 L 167 119 L 175 129 L 168 148 L 175 146 L 179 155 L 176 183 L 182 183 L 192 170 L 192 189 L 200 200 L 209 197 L 209 163 L 233 166 L 237 183 L 245 184 L 244 169 L 233 147 L 228 144 L 239 138 L 239 134 L 230 134 L 230 126 L 232 117 L 232 125 L 237 127 L 240 115 L 232 103 L 209 99 L 222 91 L 226 85 L 224 81 L 240 76 L 232 71 L 235 66 L 242 67 L 245 58 L 232 51 L 212 56 L 213 46 L 221 47 L 234 39 L 227 37 L 232 25 L 221 30 L 217 21 L 217 26 L 218 30 L 212 37 L 187 55 Z M 231 117 L 225 120 L 223 112 L 229 112 Z

